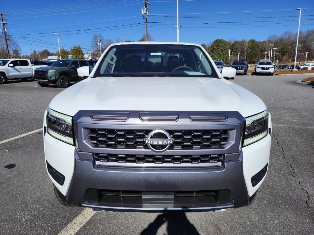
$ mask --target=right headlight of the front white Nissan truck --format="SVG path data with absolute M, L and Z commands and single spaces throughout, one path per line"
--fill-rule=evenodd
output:
M 268 110 L 245 118 L 243 147 L 253 144 L 268 134 Z

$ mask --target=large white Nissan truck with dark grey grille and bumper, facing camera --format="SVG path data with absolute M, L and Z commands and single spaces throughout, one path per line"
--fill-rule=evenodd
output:
M 65 206 L 211 211 L 247 206 L 266 177 L 271 117 L 192 43 L 109 46 L 44 116 L 47 173 Z M 64 102 L 71 100 L 71 102 Z M 264 192 L 266 193 L 266 192 Z

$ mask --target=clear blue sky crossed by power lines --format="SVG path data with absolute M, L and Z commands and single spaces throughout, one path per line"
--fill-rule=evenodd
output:
M 176 41 L 176 1 L 150 3 L 149 33 L 155 41 Z M 123 34 L 122 40 L 137 41 L 145 32 L 140 15 L 143 5 L 142 0 L 17 0 L 3 1 L 1 11 L 9 14 L 8 34 L 16 38 L 23 54 L 30 54 L 33 49 L 55 52 L 58 46 L 53 32 L 60 33 L 64 48 L 79 44 L 84 51 L 90 47 L 94 32 L 113 41 Z M 313 29 L 314 1 L 181 0 L 180 41 L 202 44 L 218 38 L 265 40 L 287 30 L 295 33 L 299 11 L 294 8 L 302 8 L 300 30 Z

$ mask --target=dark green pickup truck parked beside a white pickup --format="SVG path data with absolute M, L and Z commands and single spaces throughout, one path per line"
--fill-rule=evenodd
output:
M 70 85 L 70 82 L 82 80 L 77 72 L 77 69 L 82 66 L 90 67 L 87 60 L 57 60 L 50 66 L 35 69 L 34 79 L 39 86 L 47 87 L 49 84 L 57 84 L 58 87 L 65 88 Z

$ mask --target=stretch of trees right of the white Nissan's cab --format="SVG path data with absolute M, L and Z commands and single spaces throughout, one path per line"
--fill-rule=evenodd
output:
M 229 49 L 230 50 L 230 63 L 238 59 L 245 60 L 249 64 L 255 64 L 258 60 L 269 58 L 268 51 L 271 50 L 271 45 L 276 49 L 272 53 L 272 61 L 293 63 L 295 60 L 295 47 L 296 47 L 297 34 L 291 31 L 286 31 L 280 36 L 273 34 L 264 41 L 250 40 L 229 40 L 216 39 L 213 43 L 202 44 L 203 48 L 209 53 L 213 60 L 223 60 L 226 64 L 229 63 Z M 307 54 L 307 61 L 314 58 L 314 29 L 307 30 L 306 32 L 300 31 L 297 62 L 305 60 L 305 53 Z M 232 55 L 233 52 L 233 56 Z

